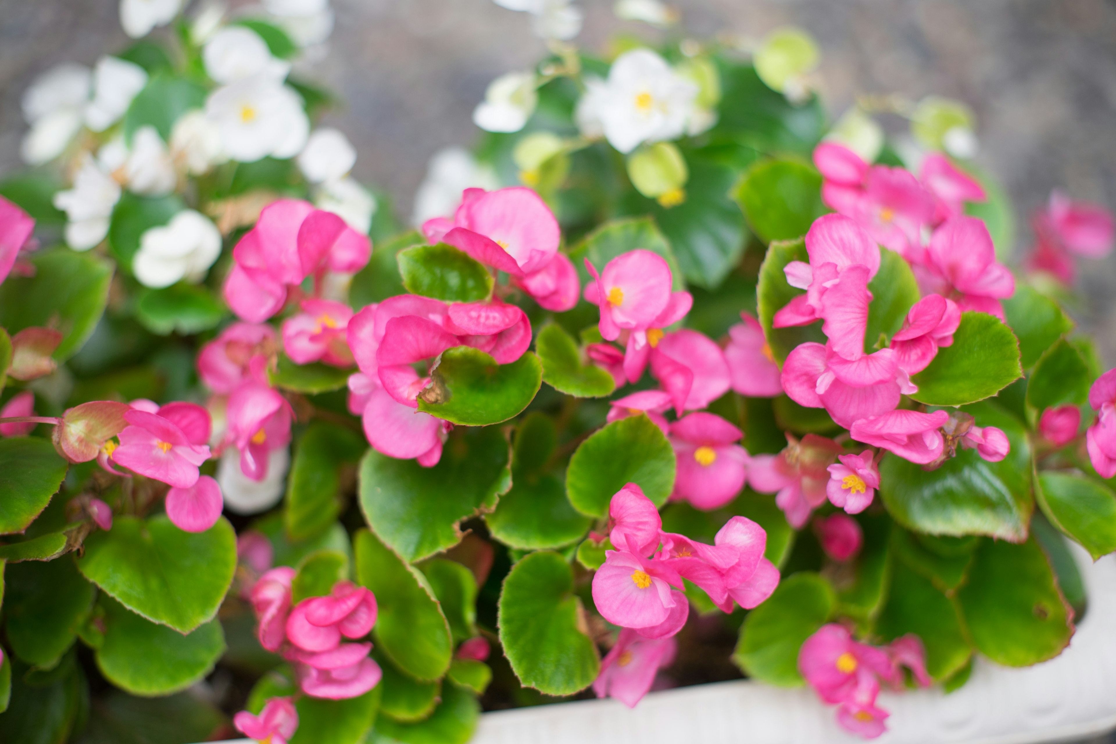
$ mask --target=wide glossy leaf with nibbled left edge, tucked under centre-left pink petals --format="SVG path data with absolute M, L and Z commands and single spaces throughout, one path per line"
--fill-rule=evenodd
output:
M 442 352 L 432 384 L 419 394 L 419 410 L 462 426 L 488 426 L 519 415 L 542 385 L 542 365 L 530 351 L 497 364 L 479 349 L 458 346 Z

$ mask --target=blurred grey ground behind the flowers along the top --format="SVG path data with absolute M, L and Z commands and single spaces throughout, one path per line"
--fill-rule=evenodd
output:
M 599 48 L 618 29 L 613 0 L 577 0 L 578 41 Z M 233 2 L 232 4 L 238 4 Z M 979 118 L 980 165 L 1014 199 L 1017 251 L 1028 215 L 1054 187 L 1116 207 L 1116 0 L 675 0 L 698 36 L 760 37 L 796 23 L 824 54 L 822 96 L 840 113 L 864 93 L 959 98 Z M 426 161 L 468 145 L 488 83 L 545 51 L 530 19 L 491 0 L 333 0 L 337 28 L 309 71 L 346 108 L 328 117 L 356 144 L 356 175 L 411 211 Z M 19 99 L 62 60 L 93 64 L 127 42 L 117 0 L 0 0 L 0 172 L 18 166 Z M 898 122 L 892 122 L 898 125 Z M 1090 298 L 1077 310 L 1116 364 L 1116 257 L 1081 265 Z

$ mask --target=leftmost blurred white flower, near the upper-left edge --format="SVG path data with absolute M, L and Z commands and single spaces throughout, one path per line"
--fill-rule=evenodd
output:
M 23 137 L 20 155 L 29 165 L 42 165 L 61 155 L 81 129 L 89 100 L 93 74 L 83 65 L 54 67 L 23 93 L 23 118 L 31 131 Z

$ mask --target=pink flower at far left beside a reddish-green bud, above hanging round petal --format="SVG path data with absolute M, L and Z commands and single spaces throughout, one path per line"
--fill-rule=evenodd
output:
M 158 413 L 132 409 L 124 414 L 128 426 L 113 451 L 117 465 L 177 489 L 198 482 L 198 467 L 210 458 L 210 417 L 201 406 L 172 403 Z

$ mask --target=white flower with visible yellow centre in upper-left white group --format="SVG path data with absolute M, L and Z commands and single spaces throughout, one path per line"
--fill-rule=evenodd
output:
M 310 135 L 301 98 L 268 75 L 218 88 L 205 102 L 205 114 L 221 131 L 224 153 L 242 163 L 294 157 Z

